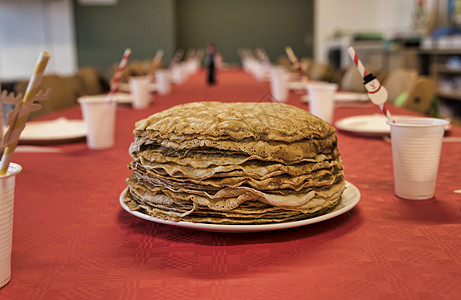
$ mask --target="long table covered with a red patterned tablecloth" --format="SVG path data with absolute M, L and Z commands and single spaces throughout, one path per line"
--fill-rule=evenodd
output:
M 12 278 L 0 299 L 459 299 L 461 143 L 449 139 L 435 197 L 414 201 L 394 195 L 386 138 L 338 130 L 345 177 L 360 201 L 305 226 L 215 232 L 121 207 L 136 121 L 191 101 L 270 101 L 269 92 L 268 81 L 238 68 L 220 71 L 212 86 L 202 70 L 146 109 L 119 105 L 110 149 L 80 140 L 17 151 Z M 304 95 L 291 92 L 287 103 L 308 110 Z M 341 104 L 334 122 L 375 113 L 371 103 Z M 59 117 L 82 119 L 80 107 L 41 120 Z M 452 125 L 447 137 L 461 137 L 461 128 Z

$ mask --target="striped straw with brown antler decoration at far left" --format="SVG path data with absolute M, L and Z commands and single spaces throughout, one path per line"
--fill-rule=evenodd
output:
M 12 126 L 12 130 L 9 130 L 9 132 L 13 132 L 16 130 L 16 131 L 19 131 L 19 134 L 20 134 L 20 132 L 24 129 L 24 126 L 26 124 L 26 120 L 27 120 L 27 117 L 29 116 L 30 111 L 23 110 L 21 108 L 24 103 L 28 101 L 33 101 L 34 97 L 37 95 L 38 87 L 40 85 L 40 82 L 42 81 L 42 77 L 43 77 L 43 74 L 45 73 L 46 65 L 48 64 L 49 59 L 50 59 L 50 54 L 48 52 L 42 51 L 40 53 L 38 60 L 37 60 L 37 65 L 35 66 L 34 73 L 32 74 L 32 77 L 30 78 L 29 84 L 27 85 L 24 98 L 18 104 L 19 112 L 16 115 L 16 118 L 14 120 L 11 120 L 10 126 Z M 18 142 L 19 142 L 19 134 L 17 135 L 17 138 L 15 138 L 13 141 L 9 141 L 9 138 L 5 138 L 5 141 L 8 144 L 5 146 L 2 160 L 0 162 L 0 175 L 5 175 L 8 171 L 8 167 L 10 165 L 11 158 L 13 157 L 14 150 L 16 149 L 16 146 L 18 145 Z

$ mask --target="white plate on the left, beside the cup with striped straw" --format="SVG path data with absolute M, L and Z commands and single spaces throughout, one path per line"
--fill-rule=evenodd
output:
M 51 121 L 27 122 L 20 143 L 62 143 L 83 140 L 86 128 L 83 120 L 58 118 Z

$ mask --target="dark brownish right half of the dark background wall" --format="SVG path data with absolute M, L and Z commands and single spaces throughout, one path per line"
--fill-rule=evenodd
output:
M 262 47 L 272 62 L 291 46 L 312 57 L 313 0 L 176 0 L 177 47 L 214 42 L 226 62 L 237 49 Z

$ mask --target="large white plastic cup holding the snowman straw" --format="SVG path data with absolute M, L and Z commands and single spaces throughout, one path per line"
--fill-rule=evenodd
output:
M 399 118 L 387 123 L 391 126 L 395 194 L 410 200 L 433 198 L 448 121 Z

